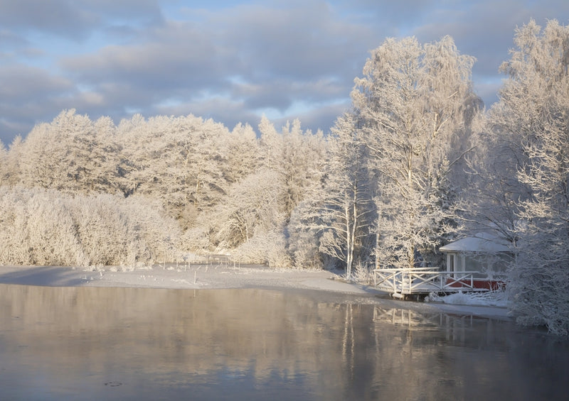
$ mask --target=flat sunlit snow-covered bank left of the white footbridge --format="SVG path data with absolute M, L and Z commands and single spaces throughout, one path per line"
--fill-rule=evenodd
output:
M 58 287 L 247 288 L 294 287 L 379 295 L 365 285 L 349 284 L 326 270 L 271 269 L 263 266 L 166 265 L 154 268 L 105 267 L 95 270 L 56 266 L 0 266 L 0 283 Z

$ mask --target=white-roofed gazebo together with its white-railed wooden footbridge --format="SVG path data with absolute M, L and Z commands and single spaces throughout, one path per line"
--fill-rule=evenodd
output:
M 504 287 L 511 253 L 503 238 L 481 233 L 440 248 L 447 268 L 384 268 L 373 270 L 374 285 L 393 297 L 430 292 L 477 292 Z

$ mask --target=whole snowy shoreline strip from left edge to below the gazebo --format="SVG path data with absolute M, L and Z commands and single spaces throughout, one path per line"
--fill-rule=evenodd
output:
M 492 319 L 509 319 L 505 307 L 392 300 L 373 287 L 345 282 L 327 270 L 270 269 L 227 265 L 155 266 L 119 270 L 113 267 L 0 266 L 0 284 L 47 287 L 140 287 L 162 289 L 275 288 L 317 290 L 361 297 L 362 302 L 388 304 L 418 312 L 444 312 Z M 365 301 L 364 301 L 365 300 Z

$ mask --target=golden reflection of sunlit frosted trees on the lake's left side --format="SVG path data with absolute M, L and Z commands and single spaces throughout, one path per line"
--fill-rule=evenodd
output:
M 156 378 L 223 370 L 263 382 L 323 370 L 310 378 L 332 388 L 349 379 L 356 339 L 353 330 L 342 339 L 344 304 L 262 290 L 1 287 L 0 324 L 12 328 L 4 339 L 40 365 L 68 365 L 64 375 L 133 363 Z

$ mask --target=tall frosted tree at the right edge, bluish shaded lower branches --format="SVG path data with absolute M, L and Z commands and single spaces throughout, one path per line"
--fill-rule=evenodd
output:
M 491 119 L 520 155 L 527 189 L 515 199 L 512 310 L 521 324 L 569 334 L 569 26 L 535 21 L 516 30 L 508 79 Z M 514 178 L 512 177 L 512 178 Z

